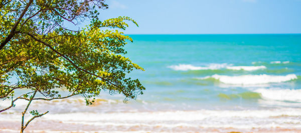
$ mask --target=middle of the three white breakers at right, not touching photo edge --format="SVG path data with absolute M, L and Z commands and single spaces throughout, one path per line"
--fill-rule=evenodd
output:
M 288 74 L 285 76 L 276 76 L 276 75 L 241 75 L 241 76 L 226 76 L 226 75 L 212 75 L 206 76 L 199 79 L 214 79 L 218 80 L 219 82 L 225 84 L 232 84 L 232 85 L 256 85 L 256 84 L 268 84 L 268 83 L 281 83 L 290 80 L 297 79 L 295 74 Z

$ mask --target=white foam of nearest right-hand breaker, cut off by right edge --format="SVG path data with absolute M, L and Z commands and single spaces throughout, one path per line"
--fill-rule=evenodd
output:
M 266 100 L 301 102 L 301 89 L 257 89 L 254 92 Z

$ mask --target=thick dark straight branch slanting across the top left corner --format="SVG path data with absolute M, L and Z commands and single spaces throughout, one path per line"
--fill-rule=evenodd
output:
M 32 4 L 34 0 L 29 0 L 29 2 L 27 3 L 25 9 L 23 10 L 22 14 L 20 15 L 20 17 L 18 18 L 18 20 L 15 22 L 15 25 L 13 26 L 10 34 L 8 35 L 8 37 L 0 44 L 0 50 L 3 49 L 3 47 L 14 37 L 14 35 L 16 34 L 16 29 L 17 26 L 19 25 L 21 19 L 23 18 L 24 14 L 26 13 L 27 9 L 29 8 L 29 6 Z

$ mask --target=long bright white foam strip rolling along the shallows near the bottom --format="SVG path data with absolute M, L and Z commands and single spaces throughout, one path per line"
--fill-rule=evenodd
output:
M 68 113 L 43 116 L 48 120 L 66 122 L 95 121 L 203 121 L 208 118 L 269 118 L 276 116 L 301 116 L 301 109 L 273 110 L 198 110 L 198 111 L 167 111 L 167 112 L 118 112 L 118 113 Z M 74 117 L 77 116 L 77 117 Z

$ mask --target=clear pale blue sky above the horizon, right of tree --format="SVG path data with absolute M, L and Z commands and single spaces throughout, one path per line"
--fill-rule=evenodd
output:
M 100 18 L 130 16 L 126 34 L 301 33 L 301 0 L 106 0 Z

